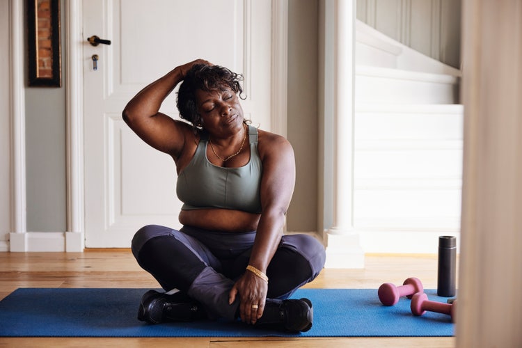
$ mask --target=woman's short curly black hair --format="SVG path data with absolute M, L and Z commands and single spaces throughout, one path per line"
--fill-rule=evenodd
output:
M 209 92 L 230 88 L 241 97 L 243 88 L 239 81 L 243 81 L 243 75 L 232 72 L 228 68 L 219 65 L 193 65 L 177 92 L 176 106 L 180 111 L 180 117 L 191 122 L 193 127 L 200 128 L 201 115 L 198 113 L 196 90 Z

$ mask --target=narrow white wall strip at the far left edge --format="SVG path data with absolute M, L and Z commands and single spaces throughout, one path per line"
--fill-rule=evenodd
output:
M 10 110 L 9 110 L 9 0 L 0 1 L 0 251 L 11 231 Z

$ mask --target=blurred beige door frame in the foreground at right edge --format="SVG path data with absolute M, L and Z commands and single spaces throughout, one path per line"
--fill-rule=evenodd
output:
M 522 347 L 522 3 L 463 1 L 457 347 Z

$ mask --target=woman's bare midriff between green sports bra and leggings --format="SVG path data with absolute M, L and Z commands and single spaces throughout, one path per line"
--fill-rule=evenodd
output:
M 258 229 L 260 216 L 232 209 L 193 209 L 180 212 L 180 223 L 204 230 L 251 232 Z

